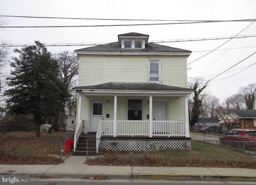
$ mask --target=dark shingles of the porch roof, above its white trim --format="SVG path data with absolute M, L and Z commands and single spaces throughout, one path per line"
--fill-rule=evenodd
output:
M 108 82 L 95 86 L 81 86 L 74 89 L 102 89 L 102 90 L 192 90 L 175 86 L 166 86 L 156 83 L 129 83 L 129 82 Z

